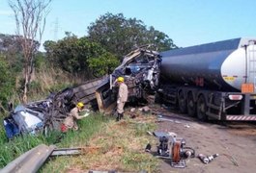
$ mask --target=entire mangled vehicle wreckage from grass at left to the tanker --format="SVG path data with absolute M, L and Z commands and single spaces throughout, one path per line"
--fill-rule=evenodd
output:
M 43 101 L 19 105 L 4 119 L 8 138 L 20 134 L 36 134 L 60 130 L 60 125 L 78 101 L 91 105 L 94 110 L 112 112 L 116 107 L 118 87 L 115 80 L 125 78 L 128 101 L 146 100 L 158 86 L 161 58 L 156 51 L 142 46 L 124 57 L 120 66 L 104 78 L 87 81 L 72 88 L 52 93 Z

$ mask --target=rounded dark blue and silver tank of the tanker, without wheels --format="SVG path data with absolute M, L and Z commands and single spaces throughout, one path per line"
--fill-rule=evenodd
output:
M 223 91 L 241 90 L 243 83 L 255 86 L 255 44 L 255 38 L 235 38 L 161 52 L 161 78 L 192 86 L 204 78 L 205 87 Z

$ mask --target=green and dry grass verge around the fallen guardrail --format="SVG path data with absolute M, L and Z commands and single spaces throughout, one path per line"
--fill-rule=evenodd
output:
M 149 114 L 119 122 L 109 116 L 92 114 L 78 121 L 79 130 L 63 135 L 52 132 L 50 136 L 18 136 L 3 142 L 0 149 L 0 165 L 5 166 L 22 153 L 44 143 L 58 148 L 83 147 L 83 155 L 49 158 L 40 172 L 88 172 L 89 170 L 118 170 L 156 172 L 158 161 L 144 151 L 148 143 L 156 143 L 147 131 L 156 129 L 155 117 Z

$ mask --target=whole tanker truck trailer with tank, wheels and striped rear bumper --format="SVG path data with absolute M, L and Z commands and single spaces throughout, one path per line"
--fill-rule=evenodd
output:
M 156 100 L 200 120 L 256 120 L 256 39 L 235 38 L 160 53 Z

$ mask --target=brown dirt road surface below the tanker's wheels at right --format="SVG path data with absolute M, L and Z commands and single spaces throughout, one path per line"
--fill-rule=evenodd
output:
M 167 120 L 158 122 L 156 132 L 173 132 L 185 139 L 185 146 L 198 154 L 219 156 L 208 164 L 198 158 L 186 159 L 185 168 L 174 168 L 170 161 L 160 162 L 163 173 L 251 173 L 256 170 L 256 124 L 244 122 L 203 123 L 184 114 L 159 109 Z

